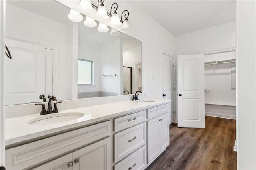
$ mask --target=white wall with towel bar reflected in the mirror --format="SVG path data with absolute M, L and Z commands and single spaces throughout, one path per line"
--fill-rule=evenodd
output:
M 120 39 L 100 45 L 101 91 L 121 94 L 122 58 Z

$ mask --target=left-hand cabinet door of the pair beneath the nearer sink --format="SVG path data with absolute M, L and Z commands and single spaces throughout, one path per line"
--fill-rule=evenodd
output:
M 32 170 L 73 170 L 73 154 L 67 154 Z

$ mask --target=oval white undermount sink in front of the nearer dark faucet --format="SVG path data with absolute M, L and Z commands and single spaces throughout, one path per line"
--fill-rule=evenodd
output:
M 48 115 L 40 116 L 35 119 L 31 119 L 30 121 L 28 121 L 28 124 L 45 125 L 45 124 L 52 124 L 52 123 L 60 123 L 60 122 L 66 122 L 66 121 L 78 119 L 83 116 L 84 116 L 84 113 L 78 113 L 78 112 L 48 114 Z

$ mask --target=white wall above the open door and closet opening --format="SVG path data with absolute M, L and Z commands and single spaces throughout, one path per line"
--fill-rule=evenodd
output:
M 176 54 L 199 54 L 236 46 L 236 23 L 229 22 L 175 37 Z

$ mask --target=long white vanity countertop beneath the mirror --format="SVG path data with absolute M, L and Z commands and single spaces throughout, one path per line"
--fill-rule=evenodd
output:
M 141 101 L 154 101 L 154 102 L 141 102 Z M 79 126 L 86 126 L 88 123 L 94 123 L 97 121 L 103 121 L 105 119 L 110 119 L 112 117 L 117 117 L 134 111 L 139 111 L 146 109 L 148 107 L 154 107 L 156 105 L 161 105 L 168 103 L 170 100 L 152 100 L 143 99 L 138 101 L 122 101 L 115 103 L 108 103 L 103 105 L 94 105 L 89 107 L 81 107 L 76 109 L 68 109 L 59 111 L 61 114 L 68 112 L 79 112 L 84 113 L 83 117 L 74 119 L 71 121 L 52 123 L 47 125 L 35 125 L 28 124 L 28 121 L 41 117 L 39 113 L 35 115 L 28 115 L 22 117 L 8 118 L 5 121 L 5 143 L 6 146 L 19 144 L 22 141 L 32 140 L 41 136 L 49 135 L 52 133 L 60 132 L 63 130 L 68 130 L 70 128 L 75 128 Z

